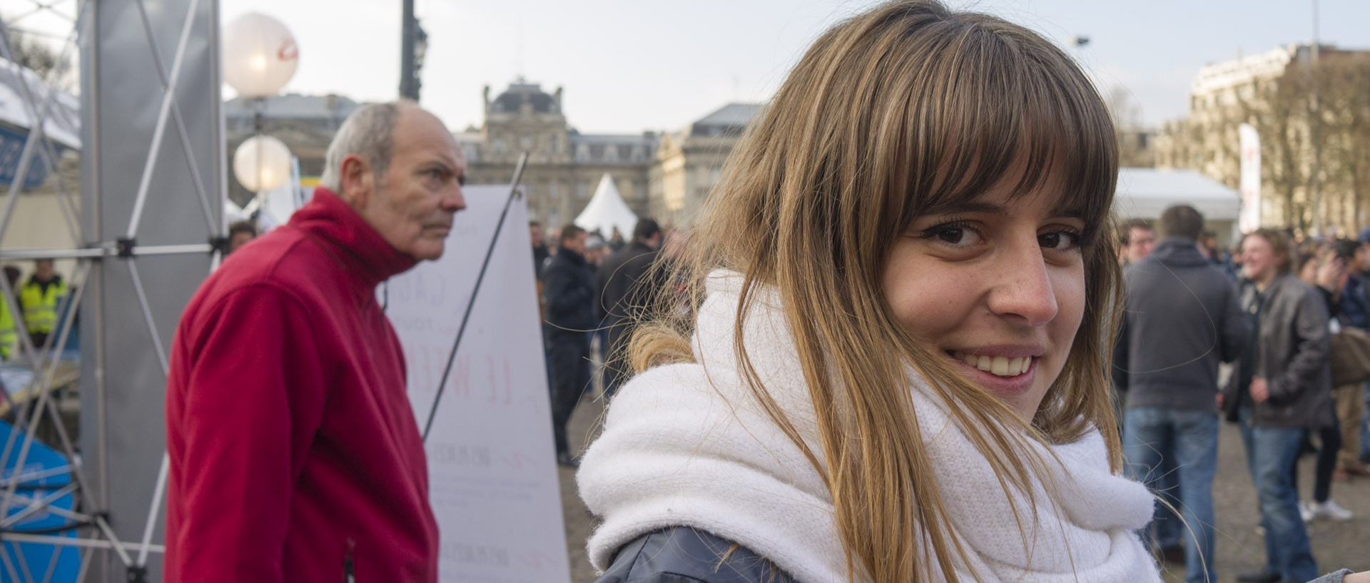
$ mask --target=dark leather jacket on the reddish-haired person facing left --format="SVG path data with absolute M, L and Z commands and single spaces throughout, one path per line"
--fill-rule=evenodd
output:
M 1258 427 L 1317 428 L 1326 426 L 1332 406 L 1332 353 L 1328 308 L 1317 290 L 1299 278 L 1277 275 L 1265 292 L 1245 282 L 1241 305 L 1256 318 L 1256 342 L 1233 367 L 1223 389 L 1229 420 L 1237 409 L 1252 409 Z M 1266 379 L 1270 398 L 1254 402 L 1251 379 Z

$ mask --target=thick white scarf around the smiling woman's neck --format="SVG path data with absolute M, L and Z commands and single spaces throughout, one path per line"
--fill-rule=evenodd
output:
M 737 274 L 710 275 L 693 337 L 699 363 L 652 368 L 625 385 L 608 409 L 604 432 L 582 458 L 581 497 L 603 519 L 588 542 L 590 562 L 601 572 L 634 538 L 688 526 L 756 552 L 799 582 L 847 580 L 830 493 L 737 372 L 733 328 L 740 287 Z M 747 353 L 822 463 L 793 337 L 774 290 L 760 292 L 744 322 Z M 1152 498 L 1143 484 L 1108 471 L 1097 431 L 1051 448 L 1060 464 L 1045 448 L 1037 452 L 1052 476 L 1034 480 L 1034 520 L 1028 498 L 1006 497 L 989 461 L 922 379 L 912 378 L 918 424 L 949 530 L 970 556 L 956 569 L 960 580 L 974 580 L 970 573 L 986 583 L 1160 580 L 1136 534 L 1151 520 Z M 1055 504 L 1044 482 L 1060 490 Z

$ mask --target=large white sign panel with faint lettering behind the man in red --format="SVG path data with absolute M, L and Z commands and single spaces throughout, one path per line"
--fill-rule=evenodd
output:
M 510 187 L 463 192 L 467 208 L 456 215 L 443 259 L 381 290 L 404 345 L 419 431 Z M 570 580 L 526 224 L 521 197 L 504 218 L 427 437 L 441 582 Z

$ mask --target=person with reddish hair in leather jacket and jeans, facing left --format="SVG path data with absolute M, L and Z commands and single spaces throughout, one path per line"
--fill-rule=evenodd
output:
M 1251 480 L 1266 530 L 1266 568 L 1244 583 L 1306 582 L 1318 575 L 1293 487 L 1295 458 L 1307 428 L 1332 420 L 1332 341 L 1322 296 L 1289 274 L 1289 241 L 1258 229 L 1241 242 L 1241 301 L 1256 341 L 1223 389 L 1229 420 L 1241 423 Z

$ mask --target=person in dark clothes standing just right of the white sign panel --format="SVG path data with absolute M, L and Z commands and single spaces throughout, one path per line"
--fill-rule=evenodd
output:
M 552 365 L 552 435 L 556 461 L 575 465 L 566 439 L 566 422 L 590 382 L 590 342 L 595 327 L 595 271 L 585 261 L 586 233 L 575 224 L 562 227 L 560 248 L 543 270 L 547 296 L 547 349 Z

